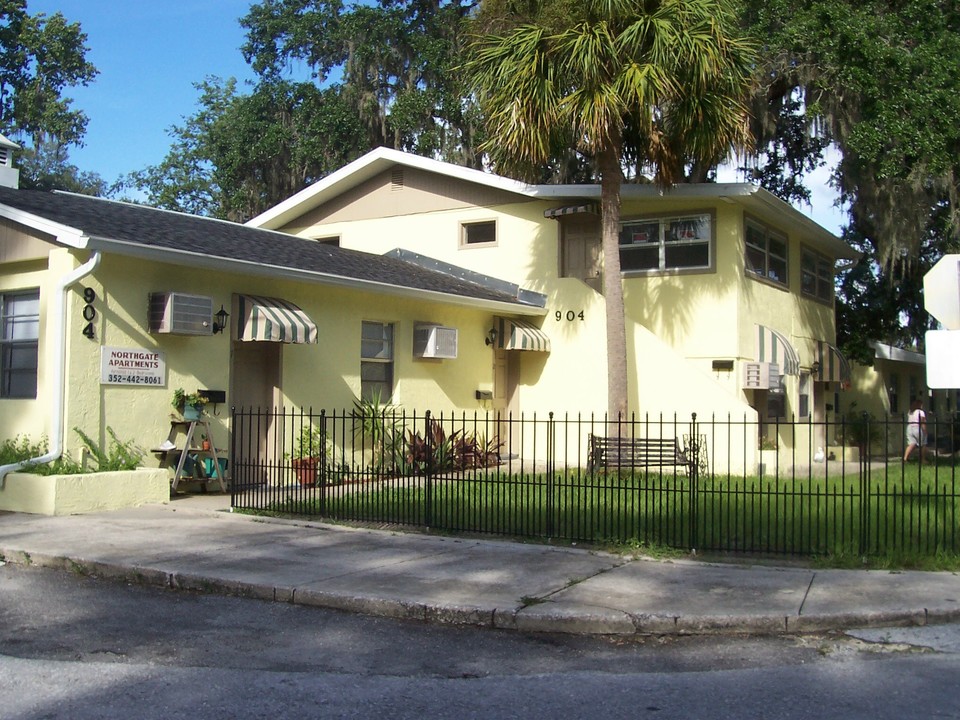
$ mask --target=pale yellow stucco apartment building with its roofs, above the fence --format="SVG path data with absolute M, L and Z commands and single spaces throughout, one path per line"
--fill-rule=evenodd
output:
M 179 387 L 223 448 L 233 406 L 602 418 L 599 194 L 382 148 L 247 226 L 0 188 L 0 437 L 157 449 Z M 627 185 L 621 214 L 631 412 L 732 419 L 711 452 L 751 469 L 758 429 L 828 419 L 850 247 L 745 184 Z

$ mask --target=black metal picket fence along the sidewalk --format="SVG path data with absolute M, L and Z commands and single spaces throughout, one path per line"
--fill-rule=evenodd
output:
M 234 410 L 232 505 L 717 552 L 960 552 L 957 425 Z M 617 437 L 607 453 L 594 437 Z M 657 442 L 653 442 L 656 440 Z M 672 443 L 670 441 L 673 441 Z M 666 452 L 668 447 L 676 452 Z M 652 451 L 651 448 L 656 448 Z

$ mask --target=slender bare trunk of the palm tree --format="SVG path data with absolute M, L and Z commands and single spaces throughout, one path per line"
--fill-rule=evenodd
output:
M 623 172 L 619 143 L 600 155 L 600 242 L 603 248 L 603 297 L 607 314 L 608 434 L 621 434 L 627 416 L 627 336 L 620 278 L 620 186 Z

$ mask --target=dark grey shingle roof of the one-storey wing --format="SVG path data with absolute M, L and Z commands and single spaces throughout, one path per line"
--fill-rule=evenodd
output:
M 181 252 L 229 262 L 254 263 L 348 281 L 442 293 L 456 298 L 529 307 L 505 292 L 451 275 L 418 267 L 396 258 L 325 245 L 272 230 L 225 220 L 159 210 L 146 205 L 87 195 L 0 187 L 0 205 L 20 210 L 82 232 L 93 240 L 120 241 L 135 249 L 170 251 L 171 263 L 182 263 Z M 111 245 L 111 252 L 122 252 Z

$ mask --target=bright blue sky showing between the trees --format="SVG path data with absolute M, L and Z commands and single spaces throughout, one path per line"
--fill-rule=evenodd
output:
M 28 0 L 31 14 L 63 13 L 87 33 L 87 58 L 100 74 L 67 92 L 90 118 L 85 146 L 70 152 L 81 170 L 107 182 L 159 163 L 170 149 L 168 129 L 196 110 L 194 83 L 209 75 L 253 78 L 240 54 L 239 19 L 253 0 Z M 800 207 L 838 232 L 828 170 L 810 178 L 812 208 Z M 721 177 L 738 181 L 732 173 Z

